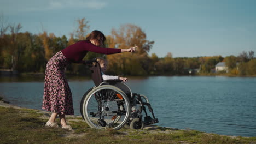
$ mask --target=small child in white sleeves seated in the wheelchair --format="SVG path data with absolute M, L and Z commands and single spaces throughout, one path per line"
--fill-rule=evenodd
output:
M 103 80 L 122 80 L 123 82 L 128 81 L 126 77 L 114 76 L 114 75 L 106 75 L 104 74 L 105 70 L 107 69 L 108 62 L 106 59 L 98 57 L 96 58 L 97 62 L 100 64 L 101 73 Z M 132 112 L 136 112 L 136 99 L 132 101 Z

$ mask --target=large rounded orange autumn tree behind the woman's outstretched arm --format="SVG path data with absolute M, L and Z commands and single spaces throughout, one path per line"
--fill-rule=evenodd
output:
M 121 25 L 118 30 L 113 28 L 112 35 L 107 37 L 107 45 L 109 47 L 127 49 L 136 45 L 138 48 L 132 55 L 130 53 L 108 55 L 108 65 L 115 68 L 114 71 L 117 73 L 122 71 L 124 74 L 148 74 L 151 65 L 147 52 L 149 52 L 153 44 L 154 41 L 147 40 L 146 33 L 138 26 L 126 24 Z M 136 68 L 134 71 L 132 70 L 132 65 L 134 66 L 133 68 Z M 111 71 L 114 72 L 113 69 Z

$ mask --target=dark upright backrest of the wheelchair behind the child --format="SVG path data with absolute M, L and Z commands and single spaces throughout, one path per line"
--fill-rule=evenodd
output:
M 103 82 L 100 64 L 98 64 L 98 62 L 94 62 L 90 68 L 90 71 L 92 80 L 94 80 L 94 84 L 97 87 Z

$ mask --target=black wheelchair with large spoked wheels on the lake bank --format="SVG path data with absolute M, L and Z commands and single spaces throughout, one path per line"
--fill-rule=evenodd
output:
M 84 64 L 89 65 L 95 87 L 83 95 L 80 113 L 91 128 L 142 130 L 144 125 L 159 122 L 145 95 L 132 93 L 121 80 L 103 81 L 100 64 L 96 60 Z M 136 111 L 131 112 L 132 106 L 136 106 Z M 146 106 L 153 118 L 148 115 Z M 146 115 L 144 118 L 142 113 Z

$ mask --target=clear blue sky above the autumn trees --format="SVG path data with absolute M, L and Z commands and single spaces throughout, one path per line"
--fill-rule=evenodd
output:
M 158 57 L 256 53 L 254 0 L 0 0 L 0 13 L 8 23 L 20 23 L 20 32 L 68 38 L 82 18 L 89 31 L 105 35 L 131 23 L 155 41 L 149 55 Z

